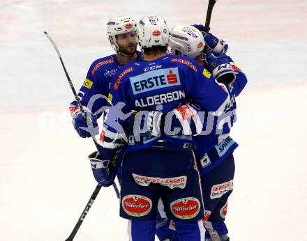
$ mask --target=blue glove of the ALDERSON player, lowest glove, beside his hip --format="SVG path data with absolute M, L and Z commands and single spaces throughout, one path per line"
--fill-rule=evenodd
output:
M 88 158 L 91 162 L 91 171 L 93 171 L 93 176 L 96 181 L 103 187 L 113 185 L 115 176 L 117 175 L 117 169 L 109 166 L 110 160 L 100 160 L 97 151 L 91 153 Z

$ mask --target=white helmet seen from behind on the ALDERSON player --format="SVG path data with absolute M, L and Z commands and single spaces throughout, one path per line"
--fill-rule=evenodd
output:
M 167 46 L 168 29 L 163 17 L 146 15 L 137 24 L 141 49 L 153 46 Z

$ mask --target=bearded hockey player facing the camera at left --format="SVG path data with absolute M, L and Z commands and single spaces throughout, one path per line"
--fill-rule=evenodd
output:
M 142 59 L 142 53 L 136 50 L 137 28 L 133 18 L 112 17 L 107 22 L 107 36 L 117 54 L 93 61 L 78 93 L 87 115 L 82 115 L 76 101 L 70 104 L 73 126 L 80 137 L 93 137 L 98 134 L 97 118 L 105 110 L 112 77 L 117 70 L 130 61 Z

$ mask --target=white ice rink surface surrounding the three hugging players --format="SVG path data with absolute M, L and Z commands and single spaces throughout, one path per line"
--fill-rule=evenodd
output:
M 75 88 L 112 54 L 112 16 L 204 22 L 207 1 L 0 1 L 0 240 L 65 240 L 96 186 L 91 139 L 71 125 Z M 307 237 L 307 1 L 219 0 L 211 32 L 248 75 L 232 137 L 236 174 L 227 225 L 234 241 Z M 102 189 L 75 240 L 128 240 L 112 187 Z

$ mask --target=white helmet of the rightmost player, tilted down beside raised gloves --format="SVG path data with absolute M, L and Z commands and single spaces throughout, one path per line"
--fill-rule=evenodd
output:
M 174 26 L 170 31 L 169 38 L 172 54 L 176 54 L 177 50 L 182 55 L 195 59 L 202 54 L 202 50 L 204 49 L 204 36 L 194 26 Z

